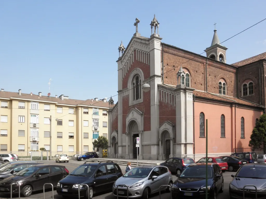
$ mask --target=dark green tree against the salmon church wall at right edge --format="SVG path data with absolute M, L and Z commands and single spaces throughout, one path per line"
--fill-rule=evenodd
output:
M 256 122 L 252 134 L 250 136 L 249 145 L 252 150 L 260 149 L 263 146 L 263 151 L 266 153 L 266 115 L 260 116 L 259 121 Z

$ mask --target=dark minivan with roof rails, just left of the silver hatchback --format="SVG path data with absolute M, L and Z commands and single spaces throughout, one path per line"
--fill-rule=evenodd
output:
M 67 197 L 78 197 L 78 185 L 80 185 L 80 196 L 93 197 L 94 193 L 112 190 L 114 182 L 123 176 L 121 168 L 113 161 L 85 162 L 77 167 L 66 178 L 60 180 L 56 186 L 59 195 Z

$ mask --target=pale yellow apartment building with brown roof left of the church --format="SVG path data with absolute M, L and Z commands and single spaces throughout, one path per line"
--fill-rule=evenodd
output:
M 30 152 L 43 147 L 56 153 L 93 151 L 94 139 L 108 138 L 106 99 L 84 101 L 1 89 L 0 152 Z

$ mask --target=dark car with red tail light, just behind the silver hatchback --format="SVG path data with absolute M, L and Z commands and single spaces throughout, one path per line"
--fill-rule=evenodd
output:
M 161 163 L 161 166 L 166 166 L 172 173 L 181 174 L 186 166 L 195 163 L 192 158 L 169 158 L 167 161 Z

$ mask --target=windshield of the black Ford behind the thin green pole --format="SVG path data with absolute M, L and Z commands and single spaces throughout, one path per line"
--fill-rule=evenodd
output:
M 186 167 L 181 173 L 180 178 L 205 178 L 206 179 L 206 166 L 193 166 Z M 208 166 L 208 178 L 213 178 L 213 169 Z

